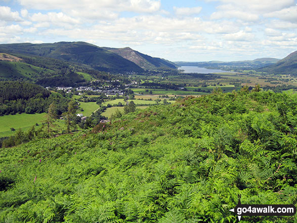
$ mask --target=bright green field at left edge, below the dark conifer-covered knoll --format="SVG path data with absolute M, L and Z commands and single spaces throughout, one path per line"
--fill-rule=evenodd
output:
M 22 129 L 27 131 L 35 123 L 38 123 L 41 126 L 41 123 L 45 120 L 45 113 L 41 114 L 16 114 L 9 116 L 0 116 L 0 137 L 10 136 L 15 133 L 11 131 L 10 128 Z M 37 127 L 37 126 L 36 126 Z

